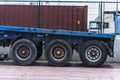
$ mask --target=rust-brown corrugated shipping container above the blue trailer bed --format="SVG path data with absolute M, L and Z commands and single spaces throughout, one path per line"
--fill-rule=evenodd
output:
M 0 5 L 0 25 L 87 31 L 87 6 Z

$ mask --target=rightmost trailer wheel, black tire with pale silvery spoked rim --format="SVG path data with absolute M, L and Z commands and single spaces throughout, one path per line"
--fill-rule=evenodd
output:
M 107 51 L 100 41 L 94 40 L 86 42 L 79 55 L 84 66 L 98 67 L 105 62 Z

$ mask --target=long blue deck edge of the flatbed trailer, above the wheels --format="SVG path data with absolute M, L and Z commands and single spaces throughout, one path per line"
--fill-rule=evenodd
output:
M 50 34 L 50 35 L 66 35 L 73 37 L 93 37 L 93 38 L 115 38 L 115 34 L 102 34 L 102 33 L 91 33 L 91 32 L 78 32 L 68 30 L 53 30 L 53 29 L 41 29 L 41 28 L 28 28 L 28 27 L 12 27 L 12 26 L 0 26 L 0 32 L 2 35 L 9 35 L 9 32 L 16 33 L 31 33 L 31 34 Z M 1 36 L 2 36 L 1 35 Z M 9 36 L 8 36 L 9 37 Z M 10 37 L 9 37 L 10 38 Z M 12 38 L 12 37 L 11 37 Z M 2 40 L 2 37 L 0 38 Z

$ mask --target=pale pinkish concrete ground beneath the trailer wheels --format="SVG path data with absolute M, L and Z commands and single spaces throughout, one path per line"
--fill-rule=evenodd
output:
M 7 61 L 0 62 L 0 80 L 120 80 L 120 64 L 90 68 L 72 62 L 66 67 L 51 67 L 46 62 L 17 66 Z

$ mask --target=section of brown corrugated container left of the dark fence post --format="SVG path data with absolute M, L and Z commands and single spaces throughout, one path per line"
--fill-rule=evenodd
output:
M 0 25 L 36 27 L 36 7 L 0 5 Z

